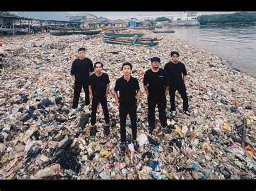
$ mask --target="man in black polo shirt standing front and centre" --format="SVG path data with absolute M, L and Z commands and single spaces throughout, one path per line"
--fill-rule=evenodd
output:
M 121 132 L 121 151 L 125 152 L 126 147 L 126 117 L 129 114 L 132 124 L 132 143 L 134 150 L 138 151 L 137 139 L 137 107 L 140 98 L 139 82 L 131 76 L 132 65 L 129 62 L 123 63 L 123 76 L 117 79 L 114 86 L 114 98 L 116 99 L 117 107 L 119 108 L 120 116 L 120 132 Z M 119 91 L 119 100 L 118 93 Z

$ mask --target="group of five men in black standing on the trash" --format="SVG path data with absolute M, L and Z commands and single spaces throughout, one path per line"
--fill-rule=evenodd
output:
M 109 94 L 109 76 L 103 73 L 103 63 L 93 63 L 89 58 L 85 58 L 85 48 L 78 49 L 78 59 L 73 61 L 71 67 L 72 79 L 75 82 L 72 111 L 70 115 L 78 111 L 78 102 L 82 87 L 85 91 L 85 111 L 89 112 L 90 96 L 91 96 L 91 131 L 90 135 L 96 135 L 96 113 L 100 103 L 103 108 L 105 135 L 110 133 L 110 117 L 107 109 L 107 95 Z M 166 95 L 169 92 L 171 102 L 171 115 L 176 115 L 175 93 L 178 90 L 183 99 L 183 112 L 190 116 L 188 112 L 188 98 L 186 93 L 186 67 L 184 63 L 179 61 L 179 53 L 171 52 L 172 61 L 166 63 L 164 69 L 160 68 L 160 58 L 153 57 L 151 59 L 151 69 L 144 74 L 143 84 L 147 94 L 148 103 L 148 122 L 149 133 L 153 133 L 155 127 L 155 109 L 158 106 L 159 122 L 163 128 L 167 126 L 166 119 Z M 96 70 L 94 74 L 92 72 Z M 120 135 L 121 150 L 126 148 L 126 118 L 129 114 L 132 128 L 132 143 L 134 149 L 138 149 L 137 139 L 137 108 L 140 100 L 140 87 L 136 78 L 131 76 L 132 65 L 125 62 L 122 65 L 123 76 L 117 79 L 114 86 L 114 98 L 119 108 L 120 117 Z M 118 97 L 119 91 L 119 97 Z

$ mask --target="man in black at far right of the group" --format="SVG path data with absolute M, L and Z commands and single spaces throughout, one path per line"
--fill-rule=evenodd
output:
M 183 99 L 183 113 L 187 116 L 190 116 L 190 112 L 188 112 L 188 98 L 186 93 L 185 82 L 187 79 L 187 71 L 184 63 L 179 61 L 179 53 L 171 52 L 172 61 L 166 63 L 164 69 L 168 73 L 168 77 L 170 80 L 170 102 L 171 102 L 171 114 L 172 116 L 176 115 L 176 107 L 175 107 L 175 93 L 178 90 L 181 98 Z M 183 74 L 183 77 L 182 77 Z

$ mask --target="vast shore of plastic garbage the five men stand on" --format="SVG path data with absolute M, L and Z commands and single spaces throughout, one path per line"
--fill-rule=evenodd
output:
M 146 37 L 160 34 L 146 32 Z M 1 39 L 0 179 L 255 179 L 255 78 L 226 67 L 212 52 L 165 35 L 156 47 L 104 44 L 97 36 L 31 36 Z M 104 63 L 110 77 L 110 135 L 97 110 L 97 133 L 90 136 L 90 114 L 69 115 L 73 98 L 70 69 L 79 47 Z M 161 67 L 178 51 L 187 68 L 191 117 L 170 115 L 162 128 L 147 130 L 143 75 L 153 56 Z M 142 96 L 138 106 L 139 150 L 129 143 L 120 155 L 120 122 L 113 88 L 122 63 L 133 65 Z M 80 104 L 83 107 L 82 91 Z M 131 123 L 127 119 L 127 140 Z

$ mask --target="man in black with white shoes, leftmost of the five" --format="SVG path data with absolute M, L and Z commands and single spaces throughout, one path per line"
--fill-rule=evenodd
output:
M 75 110 L 78 107 L 80 93 L 82 87 L 85 91 L 85 111 L 88 112 L 88 105 L 90 104 L 90 95 L 87 85 L 87 81 L 91 72 L 94 71 L 92 61 L 89 58 L 85 58 L 85 48 L 78 49 L 79 58 L 73 61 L 71 67 L 72 80 L 75 81 L 75 90 L 72 108 Z M 72 112 L 71 112 L 72 113 Z

